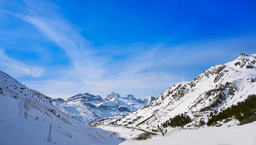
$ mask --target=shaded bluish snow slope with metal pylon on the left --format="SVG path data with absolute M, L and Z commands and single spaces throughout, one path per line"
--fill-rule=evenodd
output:
M 51 141 L 47 142 L 52 123 Z M 118 145 L 118 135 L 93 128 L 54 107 L 47 96 L 0 71 L 0 145 Z

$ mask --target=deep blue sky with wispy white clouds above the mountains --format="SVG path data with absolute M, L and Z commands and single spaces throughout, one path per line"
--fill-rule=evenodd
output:
M 53 98 L 158 96 L 256 53 L 255 0 L 0 0 L 0 70 Z

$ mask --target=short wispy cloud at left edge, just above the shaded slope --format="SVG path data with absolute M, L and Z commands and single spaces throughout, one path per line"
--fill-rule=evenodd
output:
M 42 67 L 33 67 L 30 65 L 23 64 L 22 62 L 12 59 L 7 56 L 3 50 L 0 49 L 0 68 L 3 70 L 10 70 L 10 75 L 20 76 L 20 75 L 29 75 L 34 78 L 42 76 L 45 69 Z

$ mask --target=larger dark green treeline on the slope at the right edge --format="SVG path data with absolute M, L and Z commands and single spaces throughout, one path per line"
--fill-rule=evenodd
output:
M 240 122 L 255 116 L 256 112 L 256 95 L 249 95 L 243 102 L 238 102 L 236 105 L 228 107 L 226 110 L 222 110 L 216 115 L 210 114 L 211 118 L 208 120 L 207 125 L 210 126 L 213 123 L 230 118 L 232 116 L 238 119 Z

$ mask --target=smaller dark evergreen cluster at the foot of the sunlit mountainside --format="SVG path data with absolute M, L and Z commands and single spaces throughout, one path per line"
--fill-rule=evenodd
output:
M 186 114 L 178 114 L 176 115 L 174 118 L 170 118 L 169 120 L 167 120 L 166 122 L 164 122 L 163 124 L 161 124 L 163 126 L 163 128 L 167 128 L 167 127 L 177 127 L 177 126 L 184 126 L 188 123 L 192 122 L 192 119 L 186 115 Z

